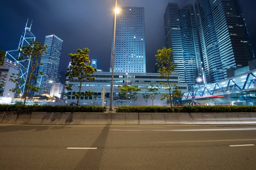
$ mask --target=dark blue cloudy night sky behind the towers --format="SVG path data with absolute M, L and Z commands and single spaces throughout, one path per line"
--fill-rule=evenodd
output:
M 163 14 L 168 2 L 180 7 L 195 0 L 119 0 L 119 5 L 145 8 L 145 45 L 147 72 L 155 71 L 157 49 L 165 46 Z M 16 50 L 26 20 L 33 19 L 31 31 L 44 44 L 44 37 L 61 38 L 60 71 L 66 71 L 68 54 L 77 48 L 89 48 L 90 59 L 98 60 L 98 68 L 110 67 L 113 37 L 114 0 L 1 0 L 0 50 Z M 256 1 L 241 0 L 245 20 L 256 51 Z

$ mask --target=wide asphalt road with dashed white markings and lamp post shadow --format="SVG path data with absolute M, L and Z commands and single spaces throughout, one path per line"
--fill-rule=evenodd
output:
M 255 145 L 255 125 L 0 125 L 0 169 L 255 170 Z

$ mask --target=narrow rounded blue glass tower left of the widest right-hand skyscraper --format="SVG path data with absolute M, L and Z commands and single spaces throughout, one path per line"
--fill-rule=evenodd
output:
M 186 83 L 189 90 L 192 90 L 192 86 L 197 83 L 196 79 L 202 75 L 198 33 L 192 4 L 179 10 L 179 20 Z

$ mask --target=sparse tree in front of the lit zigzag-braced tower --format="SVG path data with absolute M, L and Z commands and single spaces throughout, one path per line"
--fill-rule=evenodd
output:
M 31 85 L 33 82 L 33 79 L 36 80 L 36 74 L 35 71 L 39 67 L 39 65 L 44 65 L 43 62 L 41 62 L 41 57 L 43 54 L 47 53 L 48 45 L 41 45 L 41 42 L 32 41 L 30 40 L 29 46 L 23 46 L 21 49 L 19 49 L 20 57 L 17 57 L 17 61 L 19 61 L 19 64 L 23 65 L 24 72 L 27 74 L 27 80 L 25 78 L 22 78 L 20 74 L 12 74 L 10 76 L 10 81 L 14 82 L 16 84 L 16 88 L 10 89 L 10 91 L 14 93 L 21 93 L 21 89 L 19 88 L 19 85 L 21 83 L 25 83 L 25 99 L 24 99 L 24 105 L 26 104 L 26 97 L 28 96 L 28 93 L 30 91 L 39 92 L 39 89 L 36 85 Z M 21 73 L 22 74 L 22 73 Z M 43 71 L 38 71 L 38 75 L 44 75 Z

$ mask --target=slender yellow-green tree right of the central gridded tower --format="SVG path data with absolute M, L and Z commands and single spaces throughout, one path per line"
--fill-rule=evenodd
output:
M 177 66 L 173 63 L 173 54 L 172 54 L 172 48 L 165 48 L 163 47 L 162 50 L 157 50 L 157 55 L 155 56 L 157 59 L 156 66 L 159 67 L 158 73 L 160 74 L 160 77 L 163 77 L 167 80 L 167 82 L 160 83 L 163 85 L 163 87 L 168 91 L 167 94 L 161 95 L 161 100 L 167 99 L 167 103 L 171 103 L 172 107 L 172 88 L 173 84 L 169 81 L 170 76 L 172 75 L 172 72 L 174 71 L 174 68 Z

